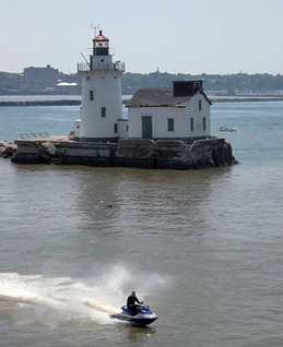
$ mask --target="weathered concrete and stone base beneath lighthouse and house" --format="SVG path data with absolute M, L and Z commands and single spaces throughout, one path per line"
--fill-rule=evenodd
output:
M 224 139 L 123 139 L 118 143 L 78 142 L 67 136 L 17 140 L 11 160 L 19 164 L 59 164 L 151 169 L 201 169 L 237 164 Z

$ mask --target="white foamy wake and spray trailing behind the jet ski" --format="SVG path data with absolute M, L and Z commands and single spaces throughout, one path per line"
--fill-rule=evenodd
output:
M 144 279 L 134 277 L 121 265 L 85 280 L 0 273 L 0 314 L 9 315 L 15 324 L 49 327 L 70 323 L 114 324 L 109 314 L 120 311 L 131 290 L 138 290 L 141 299 L 148 298 L 167 280 L 156 274 L 151 275 L 152 282 Z

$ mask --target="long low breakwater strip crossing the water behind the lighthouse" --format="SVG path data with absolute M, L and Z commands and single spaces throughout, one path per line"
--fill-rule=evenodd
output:
M 127 104 L 131 96 L 123 96 Z M 255 101 L 283 101 L 283 96 L 209 96 L 212 103 L 255 103 Z M 81 95 L 19 95 L 0 96 L 0 107 L 17 106 L 80 106 Z

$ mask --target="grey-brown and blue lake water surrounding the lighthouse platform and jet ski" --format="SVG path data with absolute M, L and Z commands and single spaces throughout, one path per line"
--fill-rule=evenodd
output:
M 0 108 L 0 139 L 79 107 Z M 235 133 L 219 133 L 220 125 Z M 215 104 L 240 161 L 201 171 L 0 158 L 1 346 L 283 346 L 283 103 Z M 160 319 L 108 318 L 135 289 Z

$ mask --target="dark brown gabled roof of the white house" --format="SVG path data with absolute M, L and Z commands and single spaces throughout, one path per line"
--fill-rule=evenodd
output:
M 141 88 L 135 92 L 128 107 L 161 107 L 187 105 L 193 95 L 174 96 L 173 88 Z

